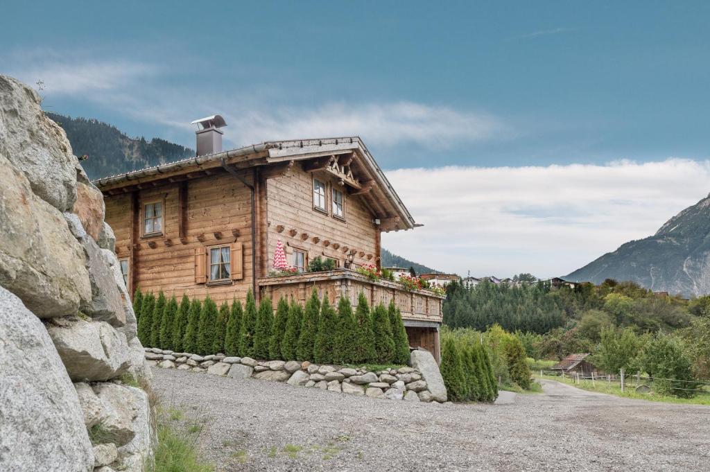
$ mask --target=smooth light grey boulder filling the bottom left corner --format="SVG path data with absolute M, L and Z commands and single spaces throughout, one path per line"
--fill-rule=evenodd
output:
M 0 470 L 93 467 L 84 414 L 52 340 L 21 300 L 0 287 Z

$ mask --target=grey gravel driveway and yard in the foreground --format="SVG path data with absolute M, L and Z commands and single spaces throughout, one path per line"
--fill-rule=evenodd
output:
M 710 407 L 544 380 L 511 405 L 375 400 L 153 368 L 165 405 L 204 424 L 218 471 L 706 471 Z

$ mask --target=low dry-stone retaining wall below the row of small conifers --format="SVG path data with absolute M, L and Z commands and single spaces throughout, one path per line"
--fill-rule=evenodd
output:
M 337 393 L 409 402 L 446 402 L 446 388 L 439 368 L 429 351 L 412 353 L 412 367 L 368 371 L 366 368 L 319 366 L 308 361 L 257 361 L 250 357 L 224 354 L 198 356 L 146 348 L 149 366 L 177 368 L 181 371 L 209 373 L 231 378 L 275 380 L 290 385 L 320 388 Z M 433 366 L 433 368 L 432 368 Z

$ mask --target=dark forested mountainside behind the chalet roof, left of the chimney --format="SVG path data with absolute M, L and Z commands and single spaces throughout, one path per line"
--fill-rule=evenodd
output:
M 95 119 L 72 118 L 49 113 L 47 116 L 61 126 L 75 155 L 87 155 L 82 161 L 90 179 L 138 170 L 173 160 L 190 158 L 195 151 L 160 138 L 146 141 L 130 138 L 118 128 Z

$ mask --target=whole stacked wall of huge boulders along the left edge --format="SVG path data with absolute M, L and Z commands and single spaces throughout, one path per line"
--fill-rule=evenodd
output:
M 124 383 L 151 373 L 102 194 L 1 75 L 0 167 L 0 471 L 141 472 L 153 415 Z

